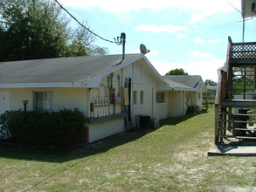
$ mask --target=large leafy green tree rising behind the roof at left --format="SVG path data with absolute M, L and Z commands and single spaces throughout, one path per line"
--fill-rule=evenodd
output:
M 92 35 L 71 29 L 52 0 L 1 0 L 0 20 L 0 61 L 91 54 Z

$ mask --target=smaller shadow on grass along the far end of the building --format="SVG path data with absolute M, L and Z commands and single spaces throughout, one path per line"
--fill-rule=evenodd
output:
M 193 118 L 202 113 L 209 113 L 209 111 L 208 111 L 208 109 L 203 109 L 200 111 L 200 113 L 187 113 L 185 116 L 182 116 L 182 117 L 167 118 L 164 120 L 160 120 L 160 125 L 161 126 L 165 126 L 165 125 L 175 126 L 176 124 L 179 124 L 179 123 L 183 122 L 184 120 L 189 120 L 190 118 Z

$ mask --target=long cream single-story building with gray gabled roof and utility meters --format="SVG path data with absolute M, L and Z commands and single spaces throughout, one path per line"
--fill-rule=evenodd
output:
M 23 109 L 23 100 L 28 111 L 78 108 L 93 142 L 135 126 L 140 115 L 159 120 L 201 106 L 201 80 L 162 77 L 143 54 L 2 62 L 0 113 Z

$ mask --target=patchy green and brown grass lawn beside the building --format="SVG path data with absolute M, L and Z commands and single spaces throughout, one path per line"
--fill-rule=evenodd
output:
M 256 157 L 208 157 L 214 113 L 68 154 L 0 147 L 0 191 L 256 191 Z

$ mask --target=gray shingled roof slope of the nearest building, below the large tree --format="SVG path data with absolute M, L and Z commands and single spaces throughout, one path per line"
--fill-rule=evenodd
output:
M 0 84 L 83 81 L 119 64 L 121 57 L 106 55 L 1 62 Z M 140 57 L 141 54 L 127 54 L 122 63 Z

